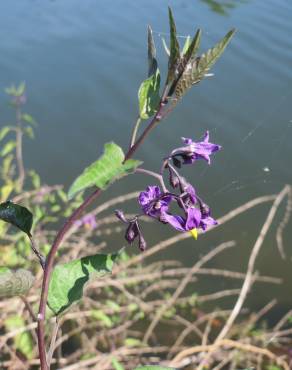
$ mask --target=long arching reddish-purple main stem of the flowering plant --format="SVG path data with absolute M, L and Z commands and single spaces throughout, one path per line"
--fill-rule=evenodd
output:
M 157 125 L 158 122 L 160 122 L 163 118 L 163 108 L 167 104 L 167 86 L 164 89 L 162 98 L 160 100 L 160 104 L 158 107 L 158 110 L 149 123 L 149 125 L 145 128 L 145 130 L 142 132 L 140 137 L 137 139 L 137 141 L 131 146 L 131 148 L 128 150 L 127 154 L 125 155 L 125 160 L 131 158 L 136 150 L 140 147 L 140 145 L 143 143 L 146 136 L 149 134 L 149 132 Z M 40 305 L 39 305 L 39 313 L 38 313 L 38 328 L 37 328 L 37 334 L 38 334 L 38 348 L 39 348 L 39 357 L 40 357 L 40 368 L 41 370 L 49 370 L 49 365 L 47 362 L 47 355 L 46 355 L 46 344 L 45 344 L 45 319 L 46 319 L 46 305 L 47 305 L 47 299 L 48 299 L 48 290 L 49 290 L 49 284 L 50 284 L 50 278 L 53 271 L 53 265 L 54 265 L 54 258 L 57 253 L 57 250 L 66 235 L 66 233 L 70 230 L 72 225 L 74 224 L 74 221 L 76 221 L 83 211 L 101 194 L 101 189 L 97 188 L 91 195 L 89 195 L 88 198 L 85 199 L 85 201 L 72 213 L 72 215 L 67 219 L 65 224 L 62 226 L 62 228 L 59 230 L 53 245 L 50 249 L 50 252 L 46 259 L 46 265 L 44 269 L 44 276 L 43 276 L 43 282 L 42 282 L 42 291 L 41 291 L 41 297 L 40 297 Z

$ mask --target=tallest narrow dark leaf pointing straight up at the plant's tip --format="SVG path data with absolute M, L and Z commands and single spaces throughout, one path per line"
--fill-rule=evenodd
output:
M 175 76 L 176 67 L 180 61 L 180 47 L 176 36 L 176 26 L 171 8 L 168 8 L 169 28 L 170 28 L 170 55 L 168 60 L 167 82 Z

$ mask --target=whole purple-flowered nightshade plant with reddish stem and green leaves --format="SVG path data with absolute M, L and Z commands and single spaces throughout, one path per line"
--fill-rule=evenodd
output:
M 123 211 L 116 211 L 116 216 L 126 225 L 126 240 L 132 243 L 137 239 L 141 250 L 146 248 L 146 241 L 139 224 L 141 215 L 146 215 L 163 224 L 167 224 L 179 232 L 191 232 L 194 237 L 197 237 L 198 229 L 206 230 L 207 227 L 216 224 L 216 221 L 211 216 L 209 206 L 199 197 L 193 185 L 179 173 L 181 166 L 194 164 L 201 159 L 210 164 L 211 154 L 217 152 L 220 146 L 209 142 L 208 132 L 205 133 L 202 141 L 195 141 L 193 138 L 183 138 L 183 145 L 172 150 L 169 155 L 163 158 L 160 173 L 141 168 L 142 162 L 132 159 L 150 131 L 168 116 L 190 87 L 208 76 L 209 69 L 221 56 L 235 32 L 234 30 L 229 31 L 213 48 L 198 56 L 201 30 L 195 33 L 193 39 L 188 37 L 181 50 L 171 9 L 169 9 L 169 24 L 168 72 L 162 92 L 155 44 L 152 30 L 149 27 L 148 77 L 142 82 L 138 91 L 139 115 L 132 131 L 129 149 L 124 154 L 122 148 L 117 144 L 113 142 L 105 144 L 103 155 L 87 167 L 73 182 L 68 192 L 69 199 L 76 198 L 77 194 L 80 197 L 80 193 L 88 188 L 94 187 L 94 190 L 67 219 L 55 237 L 46 257 L 43 257 L 38 252 L 33 240 L 31 212 L 21 205 L 12 202 L 4 202 L 0 205 L 0 218 L 18 227 L 28 235 L 32 249 L 44 270 L 37 315 L 37 337 L 42 370 L 50 368 L 50 356 L 47 355 L 45 342 L 47 305 L 53 311 L 53 314 L 58 317 L 74 302 L 82 298 L 83 287 L 87 281 L 110 273 L 115 260 L 118 258 L 118 253 L 97 254 L 54 267 L 58 248 L 71 227 L 96 225 L 94 220 L 84 218 L 83 213 L 110 184 L 122 176 L 134 172 L 150 175 L 159 182 L 159 185 L 150 183 L 140 193 L 138 203 L 141 212 L 135 217 L 128 219 Z M 140 132 L 140 123 L 142 121 L 147 121 L 147 123 L 144 123 L 145 128 Z M 169 185 L 165 183 L 166 176 Z M 20 181 L 21 187 L 23 181 L 24 176 L 22 176 Z M 179 213 L 173 212 L 173 205 L 178 206 L 176 209 L 180 209 Z M 2 275 L 5 273 L 7 273 L 6 281 L 8 281 L 6 285 L 9 285 L 9 277 L 13 276 L 13 274 L 11 274 L 11 271 L 1 270 Z M 18 273 L 18 275 L 21 274 Z M 27 274 L 25 279 L 27 289 L 26 291 L 22 289 L 22 294 L 26 294 L 31 286 L 31 284 L 27 284 Z M 17 294 L 18 291 L 14 291 Z M 8 294 L 9 292 L 6 289 L 4 293 Z M 162 367 L 158 368 L 163 369 Z

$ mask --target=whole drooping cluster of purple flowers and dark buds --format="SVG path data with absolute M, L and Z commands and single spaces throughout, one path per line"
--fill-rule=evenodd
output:
M 146 190 L 140 193 L 138 202 L 144 215 L 163 224 L 169 224 L 178 231 L 191 232 L 196 238 L 198 229 L 205 231 L 208 226 L 216 225 L 217 222 L 212 218 L 209 206 L 197 195 L 194 187 L 179 174 L 177 168 L 184 164 L 193 164 L 199 159 L 204 159 L 210 164 L 210 155 L 220 150 L 221 147 L 209 142 L 208 131 L 201 142 L 194 142 L 186 138 L 182 138 L 182 140 L 185 145 L 174 149 L 164 159 L 160 173 L 161 187 L 158 185 L 147 186 Z M 164 184 L 165 170 L 168 170 L 170 186 L 176 193 L 169 191 Z M 159 175 L 156 174 L 156 177 Z M 171 211 L 173 204 L 179 207 L 180 214 Z M 122 211 L 116 211 L 116 215 L 121 221 L 128 224 L 125 234 L 126 240 L 131 244 L 138 238 L 139 247 L 144 250 L 146 242 L 138 223 L 141 215 L 136 215 L 133 219 L 127 219 Z

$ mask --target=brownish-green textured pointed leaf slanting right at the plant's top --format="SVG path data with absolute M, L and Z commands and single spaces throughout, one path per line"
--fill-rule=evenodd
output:
M 206 53 L 198 58 L 191 58 L 175 87 L 177 99 L 181 98 L 192 85 L 200 82 L 205 77 L 209 69 L 223 54 L 234 33 L 234 29 L 229 31 L 218 44 L 209 49 Z

